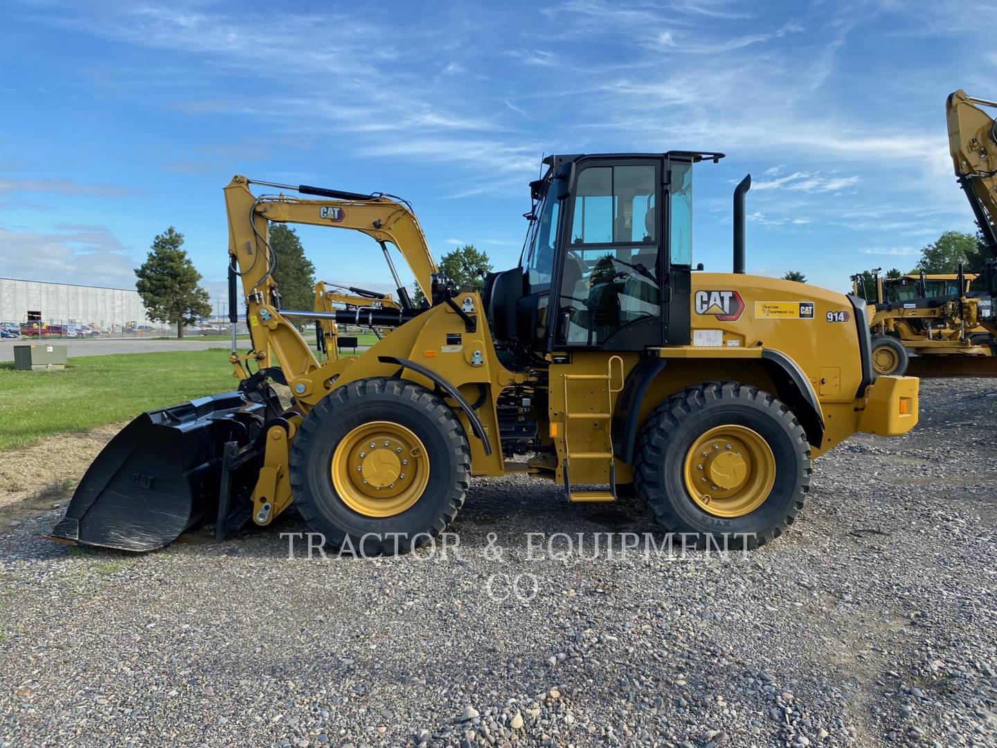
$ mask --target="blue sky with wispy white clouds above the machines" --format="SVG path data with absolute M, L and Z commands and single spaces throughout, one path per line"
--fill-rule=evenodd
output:
M 217 299 L 236 174 L 402 195 L 437 257 L 498 270 L 544 154 L 668 150 L 727 154 L 696 168 L 694 261 L 730 269 L 751 174 L 748 271 L 844 290 L 975 230 L 944 103 L 997 98 L 997 14 L 968 0 L 3 8 L 0 276 L 134 287 L 172 225 Z M 391 289 L 373 240 L 299 233 L 318 278 Z

